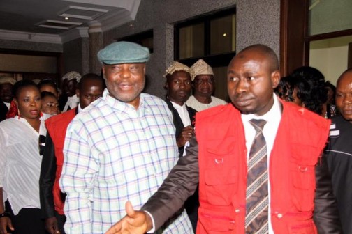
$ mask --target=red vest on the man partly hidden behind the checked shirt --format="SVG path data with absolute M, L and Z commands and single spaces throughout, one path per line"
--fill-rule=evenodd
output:
M 47 132 L 49 132 L 50 137 L 52 138 L 52 142 L 54 143 L 55 157 L 57 159 L 57 171 L 55 174 L 55 182 L 52 188 L 52 194 L 54 195 L 55 210 L 59 214 L 64 214 L 64 201 L 61 198 L 61 190 L 59 187 L 62 164 L 64 164 L 64 153 L 62 153 L 62 150 L 64 149 L 67 126 L 75 117 L 75 111 L 76 109 L 71 109 L 45 120 Z

